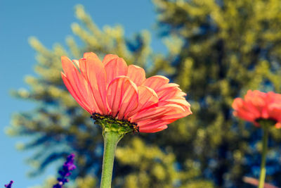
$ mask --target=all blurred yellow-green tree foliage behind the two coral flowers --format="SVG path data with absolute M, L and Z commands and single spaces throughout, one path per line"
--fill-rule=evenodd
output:
M 150 35 L 124 37 L 122 27 L 100 30 L 77 6 L 81 24 L 67 38 L 70 51 L 46 49 L 37 39 L 37 77 L 29 90 L 14 96 L 37 101 L 34 111 L 17 113 L 8 133 L 33 138 L 22 149 L 37 148 L 33 174 L 70 151 L 77 153 L 76 177 L 100 175 L 103 139 L 100 127 L 72 99 L 60 78 L 60 56 L 79 58 L 118 54 L 144 67 L 148 76 L 165 74 L 188 93 L 193 115 L 156 134 L 124 137 L 117 149 L 115 187 L 248 187 L 242 176 L 259 173 L 261 132 L 231 115 L 231 103 L 247 89 L 281 92 L 281 4 L 278 0 L 154 0 L 159 34 L 169 51 L 153 53 Z M 280 130 L 270 132 L 266 182 L 281 186 Z M 128 144 L 129 143 L 129 144 Z M 36 161 L 36 163 L 33 163 Z M 98 178 L 99 179 L 99 178 Z M 82 180 L 82 179 L 81 179 Z

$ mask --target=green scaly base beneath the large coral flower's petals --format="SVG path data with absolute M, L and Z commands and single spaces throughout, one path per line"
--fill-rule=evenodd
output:
M 103 127 L 103 134 L 105 132 L 118 132 L 119 134 L 129 134 L 131 132 L 139 132 L 139 127 L 136 123 L 131 123 L 129 120 L 117 120 L 111 115 L 100 115 L 93 113 L 91 116 L 95 123 Z

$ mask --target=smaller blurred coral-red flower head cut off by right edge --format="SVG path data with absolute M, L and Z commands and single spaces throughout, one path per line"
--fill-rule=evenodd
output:
M 281 127 L 281 94 L 249 90 L 244 100 L 233 101 L 233 115 L 259 126 L 259 120 L 272 120 L 275 127 Z

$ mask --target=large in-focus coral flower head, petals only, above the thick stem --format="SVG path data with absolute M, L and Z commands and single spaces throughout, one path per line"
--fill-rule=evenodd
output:
M 143 68 L 127 66 L 117 55 L 108 54 L 100 61 L 89 52 L 73 62 L 62 57 L 63 82 L 92 115 L 129 122 L 139 132 L 158 132 L 192 113 L 178 84 L 159 75 L 146 79 Z

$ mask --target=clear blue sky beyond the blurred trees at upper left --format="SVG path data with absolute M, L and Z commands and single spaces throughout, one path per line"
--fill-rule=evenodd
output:
M 12 113 L 28 111 L 34 102 L 13 99 L 9 91 L 28 88 L 23 78 L 34 75 L 35 51 L 28 44 L 28 37 L 37 37 L 48 48 L 55 42 L 65 44 L 65 37 L 72 35 L 70 24 L 77 21 L 74 17 L 77 4 L 84 5 L 99 27 L 123 25 L 127 37 L 141 30 L 152 31 L 155 26 L 155 8 L 149 0 L 0 0 L 0 187 L 10 180 L 15 181 L 14 188 L 31 187 L 41 184 L 48 175 L 56 175 L 51 167 L 39 177 L 27 177 L 31 168 L 25 159 L 31 156 L 32 151 L 17 151 L 15 144 L 28 138 L 7 137 L 5 129 Z M 153 31 L 152 48 L 164 51 L 162 42 Z

